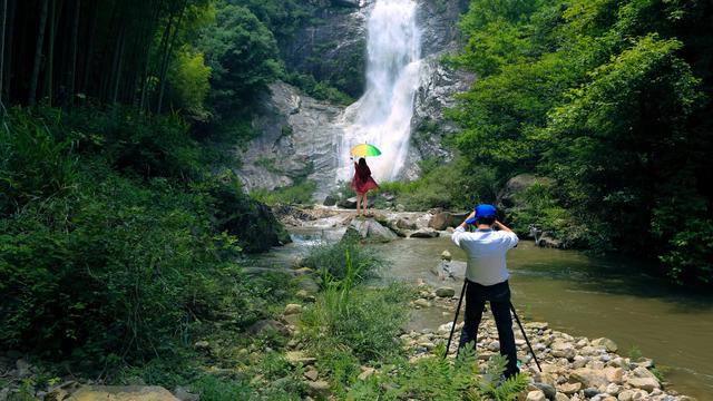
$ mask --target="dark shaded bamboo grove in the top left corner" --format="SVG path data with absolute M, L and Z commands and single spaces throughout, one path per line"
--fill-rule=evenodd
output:
M 67 108 L 96 99 L 160 113 L 167 107 L 172 57 L 207 6 L 207 0 L 2 0 L 2 101 Z

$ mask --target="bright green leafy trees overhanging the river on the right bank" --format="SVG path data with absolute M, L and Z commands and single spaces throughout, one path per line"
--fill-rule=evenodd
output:
M 546 229 L 654 248 L 674 282 L 711 283 L 712 16 L 706 1 L 471 1 L 450 59 L 478 75 L 451 111 L 457 168 L 555 178 L 529 194 Z

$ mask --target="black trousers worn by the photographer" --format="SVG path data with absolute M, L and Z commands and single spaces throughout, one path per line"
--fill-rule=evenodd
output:
M 504 375 L 507 379 L 518 373 L 517 349 L 515 348 L 512 317 L 510 316 L 510 286 L 507 280 L 495 285 L 481 285 L 466 281 L 466 322 L 460 333 L 458 349 L 460 350 L 470 341 L 472 341 L 475 348 L 482 311 L 486 307 L 486 301 L 490 301 L 495 324 L 498 327 L 500 354 L 508 359 Z

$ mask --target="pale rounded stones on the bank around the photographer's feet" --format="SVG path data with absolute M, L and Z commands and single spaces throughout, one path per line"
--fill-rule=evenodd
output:
M 458 303 L 458 294 L 452 287 L 430 288 L 423 285 L 420 297 L 412 302 L 414 313 L 423 309 L 437 307 L 452 316 Z M 443 296 L 439 296 L 443 295 Z M 462 315 L 462 311 L 461 311 Z M 401 335 L 404 346 L 412 359 L 423 358 L 436 349 L 439 342 L 447 342 L 452 323 L 438 327 L 427 327 L 420 332 L 411 331 Z M 453 342 L 449 354 L 452 356 L 460 339 L 462 323 L 456 326 Z M 652 360 L 639 358 L 632 360 L 617 353 L 617 344 L 606 338 L 587 339 L 572 336 L 549 327 L 546 322 L 525 322 L 525 332 L 537 355 L 543 372 L 540 373 L 527 348 L 522 333 L 515 329 L 518 358 L 522 362 L 521 370 L 530 376 L 530 385 L 521 395 L 521 400 L 540 401 L 676 401 L 692 400 L 672 390 L 666 390 L 666 382 L 657 376 Z M 484 363 L 499 353 L 500 343 L 495 322 L 489 312 L 478 331 L 478 358 Z

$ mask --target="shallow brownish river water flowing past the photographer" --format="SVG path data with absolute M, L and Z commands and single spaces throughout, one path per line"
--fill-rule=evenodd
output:
M 261 256 L 263 264 L 293 263 L 320 234 L 301 229 L 295 242 Z M 430 270 L 448 250 L 456 261 L 465 254 L 450 238 L 404 238 L 372 245 L 389 261 L 381 280 L 443 285 Z M 676 292 L 662 280 L 641 273 L 643 266 L 616 258 L 589 257 L 577 251 L 536 247 L 521 242 L 508 254 L 512 303 L 521 319 L 545 321 L 555 330 L 589 339 L 606 336 L 626 356 L 637 348 L 663 368 L 676 391 L 713 400 L 713 296 Z M 446 285 L 460 286 L 455 283 Z M 421 310 L 417 326 L 437 327 L 451 320 L 441 310 Z

